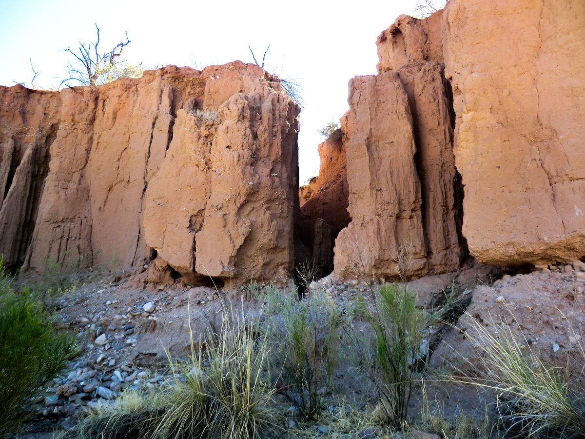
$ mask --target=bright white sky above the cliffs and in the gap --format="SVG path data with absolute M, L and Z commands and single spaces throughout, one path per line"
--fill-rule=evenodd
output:
M 59 52 L 95 40 L 106 52 L 125 40 L 123 57 L 145 68 L 175 64 L 198 68 L 234 60 L 253 62 L 270 44 L 266 70 L 301 84 L 301 183 L 319 170 L 317 130 L 347 110 L 347 83 L 376 73 L 376 37 L 416 0 L 352 2 L 0 0 L 0 85 L 35 85 L 66 77 L 72 57 Z

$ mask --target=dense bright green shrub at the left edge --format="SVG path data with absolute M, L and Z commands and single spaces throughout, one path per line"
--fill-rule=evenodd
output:
M 26 403 L 54 378 L 75 352 L 53 319 L 29 294 L 16 294 L 0 262 L 0 435 L 18 427 Z

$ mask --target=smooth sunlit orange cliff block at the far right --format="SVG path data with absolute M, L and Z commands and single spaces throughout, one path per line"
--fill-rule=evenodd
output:
M 481 262 L 585 255 L 585 2 L 451 0 L 463 234 Z

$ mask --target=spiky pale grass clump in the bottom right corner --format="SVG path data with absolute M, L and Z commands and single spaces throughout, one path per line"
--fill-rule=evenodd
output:
M 471 321 L 474 334 L 468 337 L 482 351 L 478 373 L 482 378 L 463 381 L 495 391 L 495 417 L 503 437 L 585 437 L 585 389 L 570 384 L 569 364 L 547 365 L 526 340 L 518 342 L 506 325 L 493 335 L 478 321 Z M 583 364 L 583 346 L 579 344 L 576 351 Z

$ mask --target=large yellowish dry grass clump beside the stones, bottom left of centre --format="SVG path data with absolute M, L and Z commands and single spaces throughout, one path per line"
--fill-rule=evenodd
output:
M 71 437 L 260 438 L 273 426 L 269 348 L 243 315 L 225 311 L 205 343 L 191 332 L 188 361 L 169 358 L 171 378 L 156 392 L 123 393 L 90 411 Z

